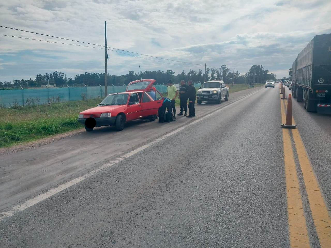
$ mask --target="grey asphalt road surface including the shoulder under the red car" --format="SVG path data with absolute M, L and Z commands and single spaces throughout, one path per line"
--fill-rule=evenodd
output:
M 1 247 L 295 247 L 289 206 L 300 197 L 288 184 L 279 96 L 249 89 L 196 105 L 192 119 L 100 128 L 1 156 Z M 310 181 L 330 206 L 330 117 L 296 101 L 293 117 Z M 299 247 L 324 248 L 305 151 L 289 134 L 309 238 Z

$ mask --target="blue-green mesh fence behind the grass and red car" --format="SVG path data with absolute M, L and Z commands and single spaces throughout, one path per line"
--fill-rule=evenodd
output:
M 161 93 L 166 92 L 165 85 L 154 86 Z M 107 93 L 125 92 L 126 86 L 107 86 Z M 16 89 L 0 90 L 1 106 L 47 104 L 52 102 L 66 102 L 82 99 L 91 99 L 105 96 L 105 86 L 45 88 L 45 89 Z

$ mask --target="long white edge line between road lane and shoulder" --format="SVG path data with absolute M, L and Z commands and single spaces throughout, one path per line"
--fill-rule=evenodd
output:
M 239 102 L 239 101 L 241 101 L 241 100 L 243 100 L 243 99 L 245 99 L 245 98 L 247 98 L 249 96 L 252 96 L 253 94 L 255 94 L 255 93 L 259 92 L 259 91 L 260 90 L 258 90 L 256 92 L 253 92 L 252 94 L 249 94 L 249 95 L 244 96 L 242 98 L 239 98 L 238 100 L 236 100 L 236 101 L 234 101 L 232 103 Z M 158 139 L 156 139 L 156 140 L 154 140 L 154 141 L 146 144 L 146 145 L 140 146 L 139 148 L 137 148 L 137 149 L 135 149 L 133 151 L 130 151 L 130 152 L 128 152 L 128 153 L 126 153 L 126 154 L 124 154 L 124 155 L 122 155 L 122 156 L 114 159 L 114 160 L 111 160 L 108 163 L 103 164 L 101 167 L 99 167 L 96 170 L 90 171 L 90 172 L 86 173 L 85 175 L 83 175 L 81 177 L 77 177 L 77 178 L 75 178 L 75 179 L 73 179 L 73 180 L 71 180 L 71 181 L 69 181 L 69 182 L 67 182 L 65 184 L 62 184 L 62 185 L 60 185 L 60 186 L 58 186 L 56 188 L 50 189 L 46 193 L 39 194 L 36 197 L 34 197 L 34 198 L 30 199 L 30 200 L 25 201 L 23 204 L 20 204 L 20 205 L 17 205 L 15 207 L 13 207 L 11 210 L 9 210 L 7 212 L 2 212 L 0 214 L 0 221 L 2 221 L 3 219 L 5 219 L 6 217 L 13 216 L 14 214 L 17 214 L 17 213 L 23 211 L 24 209 L 27 209 L 28 207 L 31 207 L 31 206 L 37 204 L 38 202 L 41 202 L 42 200 L 45 200 L 48 197 L 50 197 L 50 196 L 52 196 L 52 195 L 54 195 L 56 193 L 61 192 L 62 190 L 66 189 L 66 188 L 69 188 L 69 187 L 71 187 L 71 186 L 73 186 L 73 185 L 75 185 L 75 184 L 83 181 L 84 179 L 86 179 L 86 178 L 88 178 L 88 177 L 90 177 L 92 175 L 95 175 L 98 172 L 100 172 L 100 171 L 102 171 L 102 170 L 104 170 L 104 169 L 106 169 L 106 168 L 108 168 L 110 166 L 113 166 L 113 165 L 117 164 L 120 161 L 123 161 L 126 158 L 129 158 L 129 157 L 133 156 L 134 154 L 136 154 L 136 153 L 138 153 L 138 152 L 140 152 L 140 151 L 142 151 L 142 150 L 150 147 L 151 145 L 154 145 L 155 143 L 158 143 L 158 142 L 161 142 L 161 141 L 165 140 L 166 138 L 168 138 L 168 137 L 170 137 L 170 136 L 172 136 L 172 135 L 174 135 L 174 134 L 182 131 L 183 129 L 185 129 L 185 128 L 189 127 L 189 126 L 192 126 L 192 125 L 198 123 L 199 121 L 202 121 L 202 120 L 204 120 L 204 119 L 212 116 L 215 113 L 218 113 L 218 112 L 222 111 L 224 108 L 227 108 L 232 103 L 229 103 L 228 105 L 226 105 L 226 106 L 224 106 L 224 107 L 222 107 L 220 109 L 217 109 L 217 110 L 215 110 L 212 113 L 209 113 L 209 114 L 207 114 L 207 115 L 205 115 L 205 116 L 203 116 L 203 117 L 201 117 L 199 119 L 196 119 L 196 120 L 190 122 L 189 124 L 187 124 L 185 126 L 182 126 L 182 127 L 178 128 L 178 129 L 176 129 L 176 130 L 174 130 L 174 131 L 172 131 L 172 132 L 170 132 L 170 133 L 168 133 L 168 134 L 166 134 L 166 135 L 164 135 L 164 136 L 162 136 L 162 137 L 160 137 L 160 138 L 158 138 Z

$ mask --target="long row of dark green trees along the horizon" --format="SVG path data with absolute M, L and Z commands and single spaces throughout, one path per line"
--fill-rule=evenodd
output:
M 74 78 L 67 78 L 67 75 L 61 71 L 54 71 L 45 74 L 37 74 L 35 79 L 31 78 L 26 79 L 16 79 L 14 80 L 15 87 L 40 87 L 41 85 L 49 84 L 56 86 L 98 86 L 104 85 L 105 82 L 105 73 L 90 73 L 85 72 L 81 74 L 77 74 Z M 262 65 L 254 64 L 250 68 L 247 73 L 241 75 L 240 72 L 231 71 L 225 64 L 223 64 L 220 68 L 206 68 L 203 70 L 189 70 L 178 73 L 175 75 L 173 70 L 166 71 L 145 71 L 142 72 L 134 72 L 133 70 L 129 71 L 127 74 L 123 74 L 120 76 L 117 75 L 107 75 L 108 85 L 127 85 L 129 82 L 138 80 L 140 78 L 151 78 L 155 79 L 157 84 L 165 84 L 169 79 L 171 79 L 174 83 L 178 83 L 181 80 L 192 80 L 193 82 L 201 82 L 208 80 L 223 80 L 226 84 L 236 83 L 236 84 L 249 84 L 253 83 L 263 83 L 267 79 L 276 80 L 276 75 L 273 73 L 269 73 L 269 70 L 265 70 Z M 8 86 L 9 82 L 0 82 L 0 86 Z

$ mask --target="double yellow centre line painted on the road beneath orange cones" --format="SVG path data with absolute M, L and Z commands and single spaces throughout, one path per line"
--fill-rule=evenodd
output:
M 281 100 L 282 123 L 286 121 L 287 101 Z M 292 124 L 295 124 L 292 117 Z M 282 129 L 284 143 L 284 165 L 286 178 L 287 211 L 290 247 L 310 247 L 306 217 L 303 210 L 295 158 L 293 155 L 291 133 L 298 154 L 312 219 L 321 248 L 331 247 L 331 218 L 321 188 L 310 163 L 306 148 L 298 129 Z

